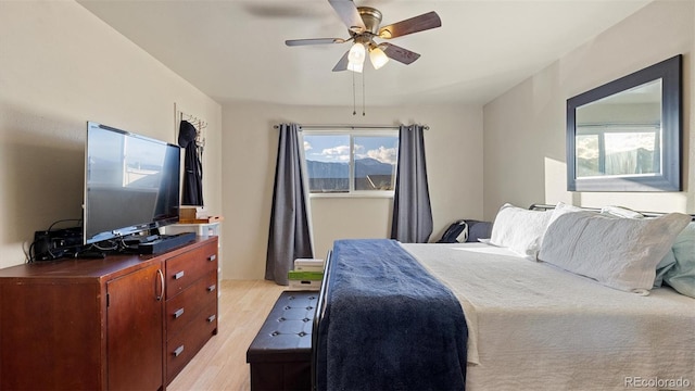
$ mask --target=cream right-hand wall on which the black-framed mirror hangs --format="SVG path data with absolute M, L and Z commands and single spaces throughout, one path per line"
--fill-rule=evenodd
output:
M 564 201 L 583 206 L 695 213 L 695 2 L 657 0 L 486 104 L 484 215 L 500 206 Z M 683 61 L 682 192 L 568 192 L 568 98 L 675 54 Z

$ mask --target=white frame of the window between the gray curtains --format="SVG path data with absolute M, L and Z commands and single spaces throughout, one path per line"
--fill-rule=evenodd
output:
M 309 189 L 309 177 L 307 168 L 306 153 L 304 151 L 305 136 L 349 136 L 350 137 L 350 160 L 349 164 L 349 188 L 346 192 L 312 192 Z M 302 172 L 305 178 L 305 189 L 308 198 L 393 198 L 394 190 L 355 190 L 355 137 L 395 137 L 396 139 L 396 159 L 393 169 L 393 185 L 395 188 L 395 176 L 399 169 L 399 153 L 401 151 L 399 140 L 399 129 L 368 129 L 368 128 L 313 128 L 302 129 L 300 131 L 300 155 L 302 159 Z

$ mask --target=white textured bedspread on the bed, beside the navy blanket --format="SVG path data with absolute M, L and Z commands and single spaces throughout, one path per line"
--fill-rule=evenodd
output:
M 606 288 L 483 243 L 402 245 L 464 307 L 467 391 L 695 389 L 695 299 Z

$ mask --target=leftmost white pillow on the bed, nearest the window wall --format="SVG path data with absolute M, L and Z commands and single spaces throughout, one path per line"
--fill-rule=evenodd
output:
M 551 211 L 530 211 L 506 203 L 497 212 L 489 243 L 535 261 L 549 218 Z

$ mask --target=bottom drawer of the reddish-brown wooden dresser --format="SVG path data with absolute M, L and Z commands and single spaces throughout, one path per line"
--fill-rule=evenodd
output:
M 166 343 L 166 382 L 168 383 L 200 351 L 213 335 L 217 333 L 217 301 L 201 313 Z

